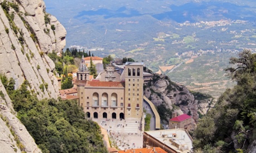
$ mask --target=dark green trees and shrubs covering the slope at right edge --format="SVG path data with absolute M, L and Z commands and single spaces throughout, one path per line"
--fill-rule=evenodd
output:
M 245 49 L 229 63 L 226 71 L 237 85 L 199 120 L 193 142 L 197 152 L 256 151 L 256 54 Z

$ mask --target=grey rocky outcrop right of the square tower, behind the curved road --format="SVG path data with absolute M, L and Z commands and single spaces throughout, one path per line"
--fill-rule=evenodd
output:
M 163 103 L 170 109 L 173 109 L 173 105 L 179 106 L 183 113 L 198 121 L 198 100 L 185 86 L 173 83 L 165 75 L 154 74 L 152 81 L 146 85 L 144 95 L 156 106 Z

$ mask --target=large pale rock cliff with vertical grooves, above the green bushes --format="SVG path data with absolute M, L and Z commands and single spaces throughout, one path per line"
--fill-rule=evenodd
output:
M 14 78 L 16 88 L 28 80 L 40 99 L 57 98 L 55 65 L 47 54 L 61 53 L 66 30 L 45 12 L 43 1 L 9 2 L 18 5 L 18 11 L 0 8 L 0 73 Z

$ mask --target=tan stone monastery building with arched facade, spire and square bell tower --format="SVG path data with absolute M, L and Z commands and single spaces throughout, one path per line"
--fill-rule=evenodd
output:
M 142 118 L 143 63 L 127 62 L 122 71 L 108 65 L 96 79 L 88 80 L 88 69 L 80 63 L 77 72 L 78 105 L 87 118 Z

